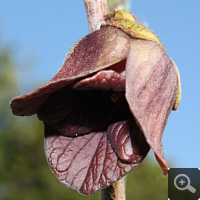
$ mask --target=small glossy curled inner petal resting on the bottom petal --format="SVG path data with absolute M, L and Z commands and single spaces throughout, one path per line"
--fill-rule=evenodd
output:
M 124 161 L 141 162 L 149 151 L 149 145 L 134 120 L 110 125 L 107 134 L 113 149 Z

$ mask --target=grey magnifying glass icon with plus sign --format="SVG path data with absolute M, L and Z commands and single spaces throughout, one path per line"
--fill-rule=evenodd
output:
M 178 190 L 189 190 L 192 193 L 196 192 L 196 189 L 190 185 L 190 178 L 186 174 L 179 174 L 174 178 L 174 186 Z

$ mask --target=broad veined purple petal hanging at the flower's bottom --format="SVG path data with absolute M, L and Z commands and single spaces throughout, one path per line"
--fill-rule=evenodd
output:
M 48 126 L 45 132 L 45 152 L 51 170 L 62 183 L 84 195 L 117 181 L 136 167 L 147 153 L 140 154 L 139 162 L 131 164 L 119 159 L 106 132 L 65 137 Z

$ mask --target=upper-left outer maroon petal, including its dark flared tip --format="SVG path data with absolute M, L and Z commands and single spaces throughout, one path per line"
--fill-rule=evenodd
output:
M 125 59 L 129 44 L 129 36 L 114 27 L 104 27 L 85 36 L 71 49 L 63 66 L 50 82 L 11 101 L 13 114 L 35 114 L 51 93 Z

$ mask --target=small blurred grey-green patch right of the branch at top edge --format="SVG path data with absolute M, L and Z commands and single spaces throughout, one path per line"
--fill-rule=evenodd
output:
M 110 11 L 114 9 L 129 11 L 131 7 L 131 0 L 107 0 L 107 2 Z

